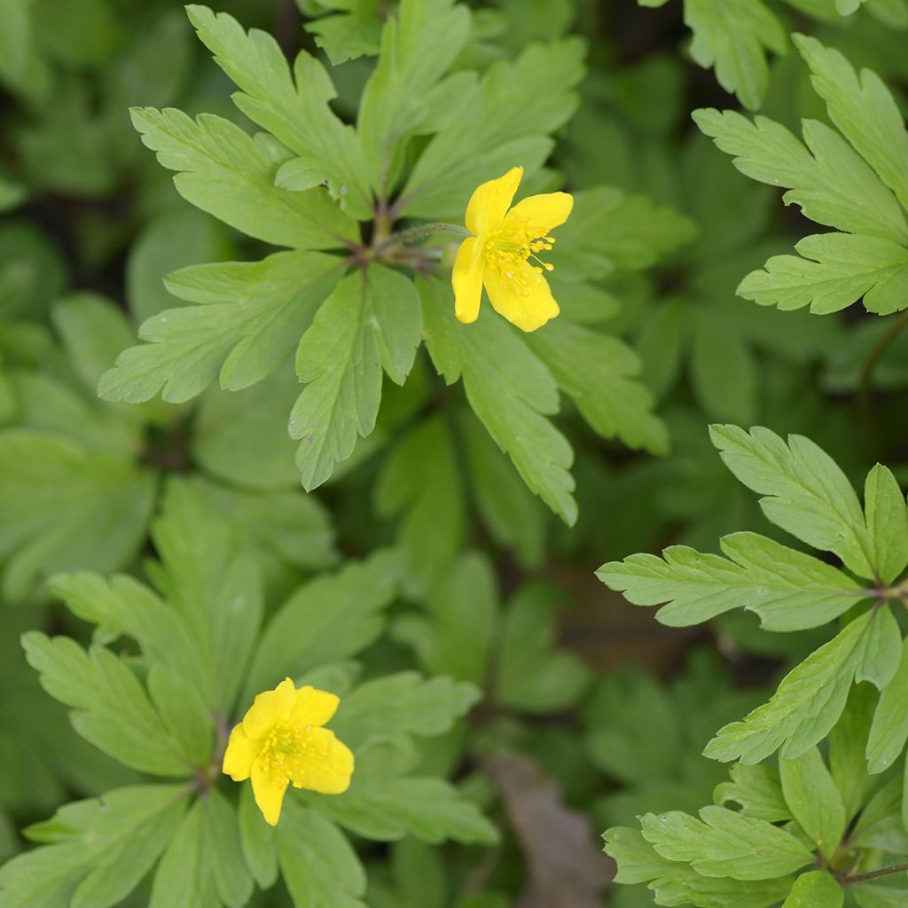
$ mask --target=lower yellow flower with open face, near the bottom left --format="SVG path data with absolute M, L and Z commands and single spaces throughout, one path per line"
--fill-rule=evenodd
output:
M 323 795 L 350 787 L 350 748 L 322 728 L 338 708 L 338 697 L 315 687 L 299 690 L 284 678 L 255 698 L 227 743 L 223 771 L 234 782 L 252 776 L 252 794 L 272 826 L 281 818 L 288 783 Z

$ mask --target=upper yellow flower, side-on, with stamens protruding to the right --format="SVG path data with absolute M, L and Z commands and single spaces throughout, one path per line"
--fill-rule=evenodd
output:
M 522 176 L 522 167 L 512 167 L 498 180 L 482 183 L 469 200 L 466 224 L 473 236 L 460 244 L 451 275 L 460 321 L 476 321 L 483 284 L 495 311 L 524 331 L 536 331 L 558 315 L 543 276 L 552 266 L 539 262 L 537 253 L 552 248 L 555 240 L 548 233 L 568 220 L 574 199 L 549 192 L 511 208 Z

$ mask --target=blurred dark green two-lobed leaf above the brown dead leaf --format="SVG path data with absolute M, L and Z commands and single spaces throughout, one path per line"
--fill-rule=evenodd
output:
M 577 702 L 591 680 L 583 660 L 556 645 L 555 612 L 562 594 L 529 583 L 511 598 L 501 628 L 495 698 L 526 713 L 557 713 Z

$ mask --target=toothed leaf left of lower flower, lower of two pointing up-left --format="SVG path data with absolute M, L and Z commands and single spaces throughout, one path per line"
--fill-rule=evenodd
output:
M 31 631 L 22 639 L 28 664 L 48 694 L 77 712 L 73 727 L 105 754 L 153 775 L 189 775 L 192 767 L 143 686 L 103 646 L 84 649 L 69 637 Z

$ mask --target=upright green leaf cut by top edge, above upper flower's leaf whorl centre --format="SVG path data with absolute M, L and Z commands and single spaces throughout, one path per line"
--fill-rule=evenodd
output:
M 469 12 L 453 0 L 401 0 L 381 35 L 379 63 L 363 89 L 357 129 L 370 182 L 387 199 L 410 136 L 428 132 L 433 89 L 469 33 Z M 439 86 L 439 87 L 443 87 Z

